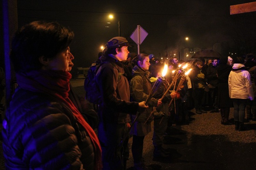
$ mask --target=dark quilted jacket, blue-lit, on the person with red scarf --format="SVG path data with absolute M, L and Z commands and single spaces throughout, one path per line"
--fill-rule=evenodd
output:
M 2 130 L 5 168 L 83 169 L 71 111 L 43 96 L 15 95 Z

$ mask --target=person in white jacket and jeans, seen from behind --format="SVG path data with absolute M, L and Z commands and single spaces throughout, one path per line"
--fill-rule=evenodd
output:
M 250 73 L 244 66 L 244 59 L 238 57 L 228 77 L 229 97 L 234 105 L 235 130 L 244 130 L 245 107 L 247 99 L 254 99 Z

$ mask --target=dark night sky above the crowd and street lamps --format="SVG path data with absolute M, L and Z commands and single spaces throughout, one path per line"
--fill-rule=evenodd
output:
M 75 38 L 71 52 L 74 67 L 88 67 L 98 58 L 100 46 L 120 35 L 129 37 L 140 25 L 147 37 L 140 52 L 155 56 L 177 51 L 177 46 L 208 47 L 232 39 L 230 5 L 246 0 L 18 0 L 18 27 L 34 20 L 58 21 L 70 27 Z M 109 14 L 114 19 L 108 18 Z M 253 13 L 254 14 L 254 13 Z M 237 14 L 237 16 L 240 14 Z M 111 22 L 111 24 L 106 24 Z M 106 28 L 109 26 L 109 28 Z M 185 42 L 184 38 L 189 37 Z M 129 50 L 137 52 L 133 43 Z

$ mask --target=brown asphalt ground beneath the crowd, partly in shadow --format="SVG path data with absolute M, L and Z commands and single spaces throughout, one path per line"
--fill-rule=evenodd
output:
M 83 81 L 83 80 L 81 80 Z M 77 94 L 83 94 L 82 86 L 75 86 Z M 230 110 L 230 120 L 233 110 Z M 154 158 L 153 132 L 144 139 L 143 158 L 146 167 L 155 170 L 255 170 L 256 169 L 256 121 L 245 123 L 246 130 L 238 132 L 234 125 L 221 125 L 220 113 L 195 114 L 190 111 L 190 123 L 169 126 L 163 147 L 171 151 L 169 157 Z M 129 140 L 131 148 L 132 137 Z M 4 169 L 2 143 L 0 169 Z M 127 161 L 127 169 L 133 169 L 133 158 Z

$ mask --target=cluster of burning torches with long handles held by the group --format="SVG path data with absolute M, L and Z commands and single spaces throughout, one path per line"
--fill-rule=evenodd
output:
M 162 99 L 166 96 L 166 94 L 168 94 L 170 88 L 173 86 L 174 84 L 174 88 L 173 88 L 173 92 L 178 91 L 182 86 L 184 81 L 187 79 L 187 75 L 189 74 L 189 72 L 191 71 L 191 68 L 188 71 L 185 71 L 184 69 L 187 67 L 188 65 L 184 65 L 183 67 L 181 67 L 181 65 L 179 65 L 179 67 L 176 70 L 172 71 L 172 82 L 170 83 L 169 87 L 167 88 L 166 92 L 163 94 L 163 96 L 159 99 L 159 101 L 162 101 Z M 165 65 L 163 72 L 162 72 L 162 76 L 158 77 L 157 81 L 154 83 L 152 90 L 150 92 L 150 94 L 148 95 L 145 104 L 147 105 L 148 101 L 150 101 L 150 99 L 155 95 L 155 93 L 157 92 L 158 88 L 161 86 L 161 84 L 163 83 L 163 81 L 165 81 L 165 75 L 167 73 L 168 70 L 168 66 Z M 175 73 L 176 72 L 176 73 Z M 184 73 L 185 72 L 185 73 Z M 175 88 L 176 86 L 176 81 L 177 79 L 179 79 L 181 77 L 181 80 L 177 86 L 177 88 Z M 176 89 L 176 90 L 175 90 Z M 171 102 L 169 103 L 169 106 L 171 105 L 171 103 L 173 102 L 173 99 L 171 100 Z M 174 98 L 174 109 L 175 109 L 175 113 L 176 113 L 176 108 L 175 108 L 175 98 Z M 150 119 L 150 117 L 152 116 L 152 114 L 154 113 L 154 111 L 156 110 L 156 107 L 154 107 L 153 111 L 150 113 L 150 116 L 147 118 L 147 120 L 145 121 L 144 124 L 147 123 L 147 121 Z

